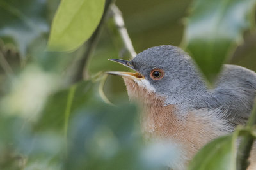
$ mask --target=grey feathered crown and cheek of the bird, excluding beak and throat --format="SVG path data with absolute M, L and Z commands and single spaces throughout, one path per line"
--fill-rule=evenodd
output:
M 166 97 L 166 104 L 191 104 L 204 97 L 207 87 L 191 57 L 172 45 L 162 45 L 139 53 L 131 60 L 134 69 L 141 73 L 156 93 Z M 150 73 L 160 69 L 163 78 L 156 80 Z

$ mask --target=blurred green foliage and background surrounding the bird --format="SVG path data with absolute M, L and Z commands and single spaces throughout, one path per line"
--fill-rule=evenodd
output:
M 166 169 L 175 150 L 142 141 L 138 108 L 129 104 L 122 79 L 108 76 L 104 84 L 116 106 L 99 91 L 102 72 L 127 70 L 108 59 L 130 58 L 111 18 L 86 62 L 86 81 L 73 78 L 88 43 L 72 52 L 45 50 L 59 3 L 0 1 L 0 169 Z M 193 6 L 188 0 L 116 5 L 136 52 L 179 46 Z M 256 71 L 256 31 L 241 36 L 226 62 Z

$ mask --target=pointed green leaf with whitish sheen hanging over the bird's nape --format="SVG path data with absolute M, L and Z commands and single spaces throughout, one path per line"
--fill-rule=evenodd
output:
M 255 0 L 195 0 L 182 46 L 211 83 L 228 55 L 252 27 Z

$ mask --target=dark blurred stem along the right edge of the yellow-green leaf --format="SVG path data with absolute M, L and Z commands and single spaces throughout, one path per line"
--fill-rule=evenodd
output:
M 94 50 L 97 46 L 100 34 L 102 32 L 102 26 L 104 25 L 104 22 L 108 18 L 109 6 L 112 3 L 115 3 L 115 0 L 106 0 L 104 13 L 100 20 L 100 23 L 99 23 L 97 29 L 95 30 L 95 32 L 92 34 L 91 38 L 87 41 L 86 51 L 84 52 L 83 56 L 81 57 L 81 59 L 77 60 L 77 67 L 76 67 L 76 71 L 74 73 L 72 83 L 76 83 L 77 81 L 81 81 L 81 80 L 85 79 L 86 64 L 88 62 L 88 59 L 90 58 L 90 56 L 92 55 L 92 53 L 94 52 Z

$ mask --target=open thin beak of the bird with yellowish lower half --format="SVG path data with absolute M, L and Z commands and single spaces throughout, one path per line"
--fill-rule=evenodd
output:
M 126 67 L 129 67 L 130 69 L 133 69 L 134 71 L 136 71 L 136 69 L 134 69 L 134 66 L 132 66 L 132 62 L 127 61 L 127 60 L 121 60 L 121 59 L 109 59 L 110 61 L 113 62 L 117 62 L 119 64 L 122 64 Z M 138 73 L 138 71 L 136 71 L 136 73 L 132 73 L 132 72 L 123 72 L 123 71 L 109 71 L 106 72 L 107 74 L 111 74 L 111 75 L 116 75 L 116 76 L 123 76 L 126 78 L 130 78 L 130 79 L 134 79 L 134 78 L 144 78 L 140 73 Z

